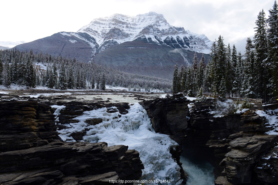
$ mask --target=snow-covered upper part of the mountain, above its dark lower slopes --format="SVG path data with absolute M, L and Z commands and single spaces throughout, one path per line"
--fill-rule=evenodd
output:
M 94 54 L 113 45 L 137 39 L 206 54 L 210 52 L 213 43 L 204 34 L 198 35 L 184 30 L 183 27 L 171 26 L 162 14 L 155 12 L 137 16 L 114 14 L 94 19 L 77 32 L 87 33 L 95 38 L 99 48 L 94 48 Z

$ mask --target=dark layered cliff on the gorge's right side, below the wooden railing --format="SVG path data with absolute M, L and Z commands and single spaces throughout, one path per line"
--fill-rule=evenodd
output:
M 213 101 L 195 103 L 185 143 L 215 167 L 215 184 L 277 184 L 278 136 L 264 134 L 266 119 L 254 111 L 213 117 L 213 109 Z

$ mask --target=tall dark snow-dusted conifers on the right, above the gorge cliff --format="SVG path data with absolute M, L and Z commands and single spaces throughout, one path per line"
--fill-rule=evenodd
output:
M 174 66 L 173 93 L 195 97 L 198 91 L 222 97 L 241 94 L 264 101 L 278 98 L 278 6 L 274 2 L 268 19 L 261 10 L 255 21 L 254 39 L 246 39 L 245 53 L 226 46 L 223 37 L 213 42 L 211 59 L 205 65 L 194 55 L 192 66 Z

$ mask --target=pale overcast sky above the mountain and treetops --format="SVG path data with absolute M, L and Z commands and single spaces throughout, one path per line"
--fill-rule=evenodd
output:
M 60 31 L 76 32 L 91 20 L 115 13 L 136 16 L 154 11 L 172 26 L 204 34 L 244 52 L 253 39 L 257 15 L 266 18 L 274 0 L 0 0 L 0 41 L 44 38 Z

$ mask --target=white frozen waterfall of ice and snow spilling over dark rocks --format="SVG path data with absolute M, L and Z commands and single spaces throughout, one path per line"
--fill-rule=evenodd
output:
M 56 107 L 56 106 L 53 106 Z M 62 109 L 63 107 L 57 107 Z M 116 107 L 112 109 L 117 110 Z M 58 111 L 55 112 L 58 116 Z M 90 118 L 102 118 L 97 125 L 85 121 Z M 155 133 L 145 109 L 135 103 L 127 114 L 107 113 L 107 108 L 86 111 L 74 118 L 78 123 L 66 125 L 70 128 L 59 130 L 64 141 L 75 141 L 70 134 L 90 129 L 83 137 L 86 142 L 107 142 L 108 146 L 125 145 L 128 149 L 139 151 L 145 169 L 140 180 L 171 180 L 168 184 L 180 184 L 180 167 L 170 154 L 170 149 L 178 144 L 168 135 Z M 157 183 L 153 183 L 157 184 Z M 167 184 L 167 183 L 166 183 Z

